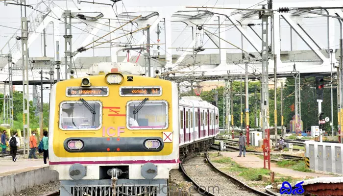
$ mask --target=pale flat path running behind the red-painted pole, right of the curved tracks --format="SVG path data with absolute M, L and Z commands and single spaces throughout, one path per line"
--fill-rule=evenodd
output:
M 240 164 L 245 168 L 263 168 L 263 159 L 257 157 L 254 154 L 246 153 L 245 157 L 237 157 L 239 152 L 224 152 L 221 151 L 223 156 L 227 156 L 232 158 L 236 163 Z M 292 176 L 295 178 L 302 178 L 302 177 L 333 177 L 333 174 L 326 174 L 326 173 L 315 173 L 315 172 L 298 172 L 287 168 L 279 168 L 275 163 L 270 164 L 270 170 L 275 173 L 281 173 L 283 175 Z

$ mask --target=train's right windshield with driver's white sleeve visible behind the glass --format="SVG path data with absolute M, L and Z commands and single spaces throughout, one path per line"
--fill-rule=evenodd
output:
M 168 104 L 166 101 L 131 101 L 127 106 L 128 129 L 166 129 L 168 128 Z M 137 111 L 137 107 L 141 108 Z

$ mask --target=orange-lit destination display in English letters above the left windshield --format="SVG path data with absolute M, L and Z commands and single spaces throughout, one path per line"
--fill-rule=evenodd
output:
M 68 97 L 103 97 L 108 96 L 108 87 L 72 87 L 67 88 L 66 95 Z

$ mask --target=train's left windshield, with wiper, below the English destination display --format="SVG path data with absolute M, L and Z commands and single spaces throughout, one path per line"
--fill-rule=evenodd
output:
M 82 101 L 63 102 L 60 109 L 60 128 L 62 130 L 99 129 L 101 104 L 96 101 L 87 101 L 87 103 L 84 104 Z

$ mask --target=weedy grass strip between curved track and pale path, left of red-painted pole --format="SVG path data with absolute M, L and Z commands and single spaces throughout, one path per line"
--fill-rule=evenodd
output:
M 259 175 L 270 175 L 270 171 L 267 169 L 241 167 L 230 157 L 217 156 L 211 161 L 215 163 L 226 163 L 226 167 L 223 168 L 223 170 L 236 172 L 238 173 L 238 176 L 242 176 L 246 180 L 259 181 Z

